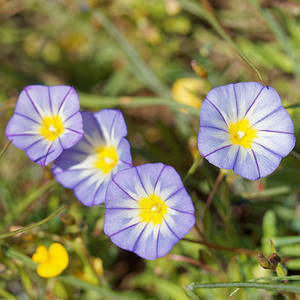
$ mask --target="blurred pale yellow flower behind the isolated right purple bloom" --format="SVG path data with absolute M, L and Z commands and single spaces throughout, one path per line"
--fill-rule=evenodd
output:
M 195 108 L 200 108 L 204 99 L 201 99 L 209 90 L 207 80 L 200 78 L 181 78 L 174 82 L 172 88 L 173 99 Z

